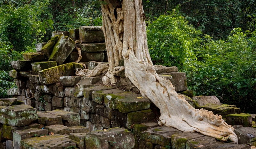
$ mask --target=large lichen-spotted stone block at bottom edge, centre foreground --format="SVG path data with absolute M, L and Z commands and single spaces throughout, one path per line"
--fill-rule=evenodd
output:
M 111 145 L 111 143 L 114 143 Z M 86 134 L 86 148 L 108 148 L 114 146 L 118 149 L 132 149 L 135 141 L 132 132 L 122 128 L 111 128 L 107 131 L 94 131 Z

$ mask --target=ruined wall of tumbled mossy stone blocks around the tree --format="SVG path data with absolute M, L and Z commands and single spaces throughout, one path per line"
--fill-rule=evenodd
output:
M 75 42 L 76 41 L 76 42 Z M 81 50 L 82 59 L 76 63 Z M 0 99 L 0 149 L 250 149 L 256 146 L 255 114 L 243 114 L 235 105 L 221 104 L 216 96 L 193 97 L 186 74 L 177 67 L 156 65 L 159 76 L 193 107 L 212 111 L 232 127 L 238 144 L 158 126 L 159 109 L 125 78 L 103 85 L 100 74 L 76 76 L 77 69 L 108 66 L 105 38 L 100 27 L 54 31 L 36 53 L 12 61 L 10 76 L 18 88 L 12 98 Z M 122 61 L 119 66 L 124 66 Z M 253 126 L 252 126 L 253 124 Z M 254 127 L 254 128 L 252 128 Z M 252 146 L 252 147 L 251 147 Z

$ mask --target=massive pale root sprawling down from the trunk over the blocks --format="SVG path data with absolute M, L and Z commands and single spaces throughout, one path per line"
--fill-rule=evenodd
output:
M 178 95 L 170 80 L 159 77 L 154 67 L 146 62 L 139 62 L 129 51 L 124 57 L 125 75 L 148 97 L 161 111 L 159 124 L 174 127 L 183 132 L 200 132 L 214 138 L 227 138 L 238 143 L 234 128 L 229 126 L 221 116 L 212 111 L 193 108 L 183 95 Z M 224 138 L 225 137 L 225 138 Z

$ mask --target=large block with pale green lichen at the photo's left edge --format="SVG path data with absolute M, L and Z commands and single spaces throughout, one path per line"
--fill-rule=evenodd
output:
M 38 118 L 36 109 L 28 105 L 1 106 L 0 123 L 10 126 L 26 126 Z

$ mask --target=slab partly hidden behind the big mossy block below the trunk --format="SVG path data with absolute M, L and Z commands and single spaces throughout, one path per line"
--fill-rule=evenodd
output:
M 119 90 L 119 89 L 93 91 L 92 92 L 92 100 L 95 101 L 96 103 L 102 104 L 102 102 L 104 101 L 104 95 L 123 93 L 123 92 L 125 92 L 125 91 Z

